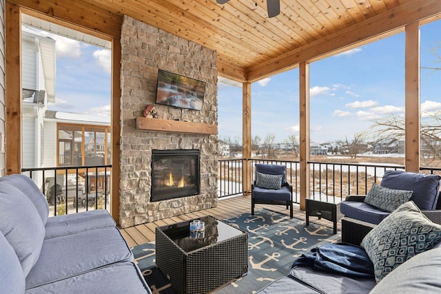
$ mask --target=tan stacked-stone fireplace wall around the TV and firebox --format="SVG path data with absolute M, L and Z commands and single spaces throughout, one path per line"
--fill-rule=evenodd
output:
M 202 110 L 155 105 L 158 119 L 217 125 L 216 52 L 125 16 L 121 28 L 121 227 L 153 222 L 217 205 L 216 135 L 149 132 L 134 120 L 154 104 L 158 69 L 206 82 Z M 150 202 L 152 149 L 199 149 L 200 193 Z

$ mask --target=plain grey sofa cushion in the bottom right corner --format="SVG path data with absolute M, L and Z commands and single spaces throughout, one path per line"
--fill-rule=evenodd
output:
M 384 277 L 372 294 L 384 293 L 440 293 L 441 249 L 418 254 Z

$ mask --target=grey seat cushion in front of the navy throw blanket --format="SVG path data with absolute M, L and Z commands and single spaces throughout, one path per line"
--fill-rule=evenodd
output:
M 301 284 L 310 285 L 312 288 L 318 289 L 320 293 L 327 294 L 369 293 L 373 286 L 376 285 L 376 281 L 373 278 L 346 277 L 336 273 L 314 271 L 314 269 L 311 269 L 309 266 L 295 266 L 289 271 L 288 277 L 293 278 Z M 354 289 L 356 289 L 356 292 L 354 292 Z M 280 293 L 301 292 L 296 292 L 294 288 Z

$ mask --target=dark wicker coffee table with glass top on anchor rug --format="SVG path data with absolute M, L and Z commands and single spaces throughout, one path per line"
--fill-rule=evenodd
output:
M 248 235 L 211 216 L 204 233 L 189 222 L 156 228 L 156 266 L 176 293 L 205 293 L 248 271 Z

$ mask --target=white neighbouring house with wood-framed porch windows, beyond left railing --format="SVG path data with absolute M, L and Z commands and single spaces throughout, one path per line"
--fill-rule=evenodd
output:
M 23 168 L 110 164 L 110 117 L 54 112 L 57 53 L 55 40 L 22 26 L 22 138 Z M 54 185 L 46 171 L 45 189 Z M 43 187 L 42 177 L 34 177 Z M 57 175 L 57 183 L 65 182 Z

